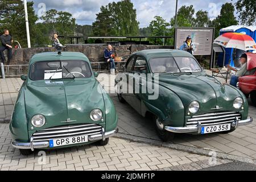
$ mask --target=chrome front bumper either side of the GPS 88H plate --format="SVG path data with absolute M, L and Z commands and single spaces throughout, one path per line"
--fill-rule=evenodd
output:
M 114 134 L 118 133 L 118 129 L 115 129 L 113 131 L 109 132 L 102 132 L 102 134 L 97 135 L 89 135 L 88 140 L 89 142 L 97 141 L 97 140 L 105 140 L 107 138 L 112 137 Z M 48 148 L 49 142 L 29 142 L 29 143 L 23 143 L 23 142 L 17 142 L 16 140 L 12 143 L 13 147 L 19 148 L 19 149 L 31 149 L 34 151 L 34 149 L 39 148 Z

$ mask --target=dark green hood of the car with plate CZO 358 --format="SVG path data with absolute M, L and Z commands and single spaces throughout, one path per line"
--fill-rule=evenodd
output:
M 234 100 L 241 97 L 237 89 L 203 74 L 160 76 L 159 84 L 176 93 L 186 108 L 192 101 L 199 101 L 200 113 L 214 111 L 216 106 L 220 110 L 234 110 Z

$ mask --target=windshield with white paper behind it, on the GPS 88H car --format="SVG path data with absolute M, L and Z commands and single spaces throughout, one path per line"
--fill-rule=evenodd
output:
M 70 78 L 89 78 L 92 71 L 82 60 L 40 61 L 31 65 L 31 80 L 55 80 Z

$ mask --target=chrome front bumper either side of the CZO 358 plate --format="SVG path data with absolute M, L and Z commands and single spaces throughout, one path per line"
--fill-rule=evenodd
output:
M 241 120 L 241 121 L 234 121 L 232 122 L 232 127 L 234 127 L 235 129 L 238 126 L 244 126 L 244 125 L 249 125 L 253 122 L 253 118 L 248 118 L 245 120 Z M 201 123 L 198 122 L 197 126 L 191 126 L 191 127 L 170 127 L 170 126 L 166 126 L 164 127 L 165 130 L 170 131 L 172 133 L 201 133 Z

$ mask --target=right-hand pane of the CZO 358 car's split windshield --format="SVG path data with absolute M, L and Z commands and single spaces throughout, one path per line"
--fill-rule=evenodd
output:
M 202 69 L 192 57 L 175 57 L 181 72 L 201 72 Z

